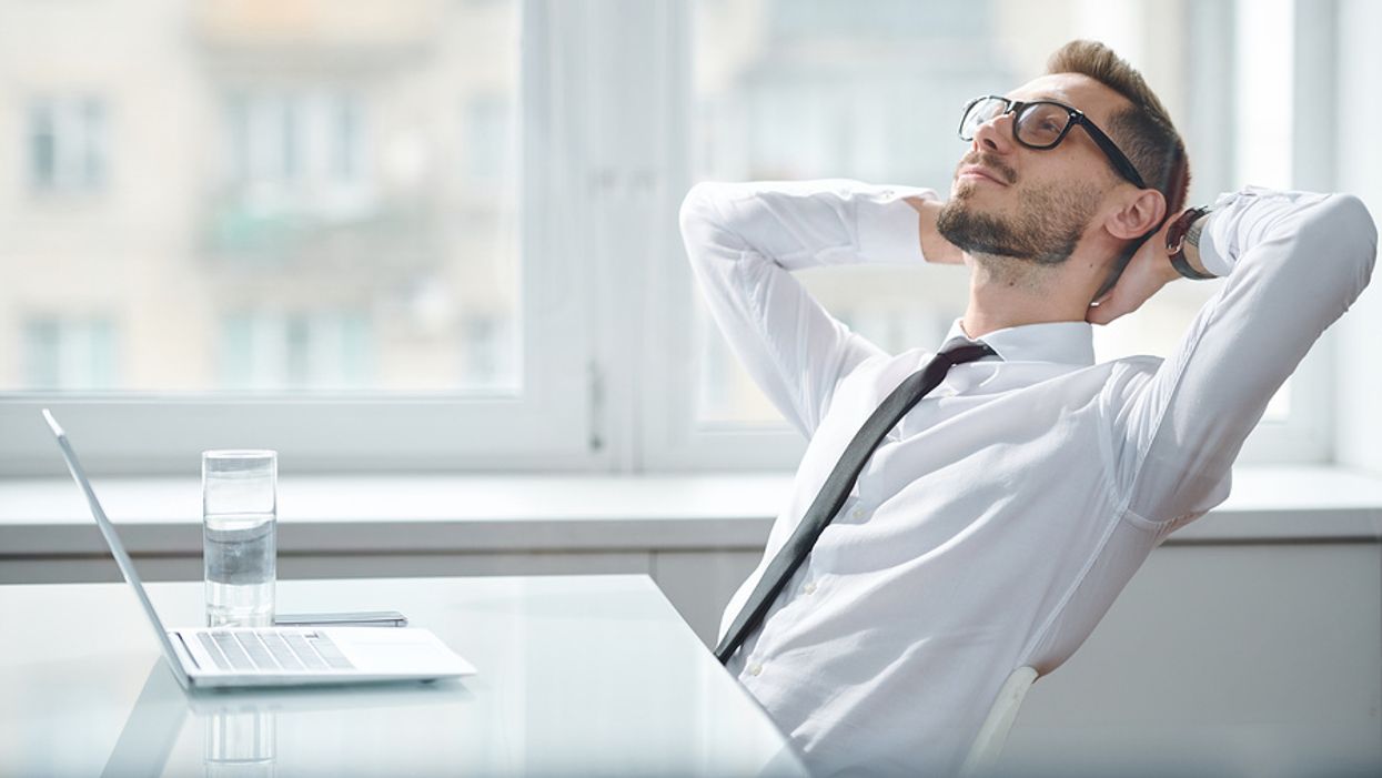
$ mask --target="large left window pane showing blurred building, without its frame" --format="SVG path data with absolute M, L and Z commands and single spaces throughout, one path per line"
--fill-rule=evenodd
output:
M 0 1 L 0 391 L 518 392 L 518 54 L 517 0 Z

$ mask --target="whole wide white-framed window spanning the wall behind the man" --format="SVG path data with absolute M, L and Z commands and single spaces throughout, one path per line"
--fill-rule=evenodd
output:
M 1300 149 L 1335 123 L 1298 117 L 1334 116 L 1332 98 L 1281 82 L 1332 77 L 1336 35 L 1302 37 L 1295 10 L 0 4 L 0 39 L 25 36 L 0 47 L 22 158 L 0 177 L 17 203 L 0 245 L 0 474 L 53 471 L 44 405 L 104 473 L 184 471 L 228 446 L 276 448 L 285 471 L 789 468 L 803 441 L 698 312 L 676 218 L 691 184 L 944 189 L 963 102 L 1086 36 L 1177 117 L 1191 202 L 1241 182 L 1328 188 L 1332 167 Z M 109 46 L 64 44 L 72 23 Z M 1262 90 L 1273 99 L 1249 97 Z M 1263 123 L 1280 131 L 1249 133 Z M 26 196 L 50 191 L 102 196 Z M 967 292 L 958 268 L 803 281 L 891 351 L 936 344 Z M 1096 329 L 1099 358 L 1165 354 L 1216 286 L 1173 285 Z M 1321 343 L 1249 457 L 1328 456 L 1328 359 Z

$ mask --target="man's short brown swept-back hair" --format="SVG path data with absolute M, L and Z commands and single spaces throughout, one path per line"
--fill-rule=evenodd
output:
M 1132 160 L 1143 181 L 1166 199 L 1166 218 L 1179 213 L 1190 191 L 1190 159 L 1186 156 L 1186 144 L 1180 133 L 1171 122 L 1171 115 L 1143 80 L 1142 73 L 1114 54 L 1113 48 L 1096 40 L 1071 40 L 1061 46 L 1046 61 L 1046 72 L 1089 76 L 1132 102 L 1130 106 L 1114 113 L 1108 133 Z M 1155 234 L 1155 229 L 1151 234 Z M 1118 258 L 1119 274 L 1146 238 L 1147 235 L 1133 240 Z M 1114 281 L 1117 275 L 1104 285 L 1100 294 L 1107 292 Z

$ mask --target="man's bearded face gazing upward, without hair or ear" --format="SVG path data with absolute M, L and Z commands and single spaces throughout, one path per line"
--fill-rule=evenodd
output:
M 1108 87 L 1078 73 L 1042 76 L 1005 97 L 1063 102 L 1104 131 L 1126 105 Z M 1083 129 L 1071 127 L 1056 148 L 1032 149 L 1013 137 L 1014 120 L 1007 113 L 976 130 L 955 169 L 937 228 L 970 254 L 1060 264 L 1122 178 Z

